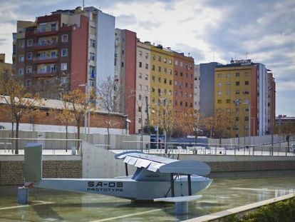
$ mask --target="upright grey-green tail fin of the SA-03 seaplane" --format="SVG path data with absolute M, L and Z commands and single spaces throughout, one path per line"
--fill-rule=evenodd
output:
M 25 186 L 42 179 L 42 143 L 27 143 L 24 151 Z

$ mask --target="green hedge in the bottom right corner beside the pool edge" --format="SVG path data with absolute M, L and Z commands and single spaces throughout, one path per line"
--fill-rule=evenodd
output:
M 222 218 L 222 222 L 294 222 L 295 198 L 262 206 L 242 218 L 238 214 Z

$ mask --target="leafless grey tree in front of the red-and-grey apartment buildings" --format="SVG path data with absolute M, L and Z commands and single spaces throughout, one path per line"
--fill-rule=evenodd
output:
M 108 131 L 108 148 L 110 146 L 110 127 L 115 125 L 115 122 L 110 118 L 111 113 L 118 111 L 118 102 L 120 100 L 121 90 L 118 89 L 118 79 L 115 76 L 108 76 L 98 86 L 97 93 L 100 97 L 101 109 L 107 111 L 108 117 L 106 120 Z

